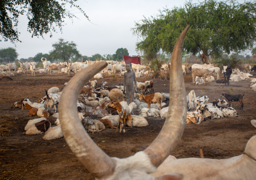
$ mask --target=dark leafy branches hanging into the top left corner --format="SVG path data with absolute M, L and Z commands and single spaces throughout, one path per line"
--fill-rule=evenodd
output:
M 61 3 L 56 0 L 8 0 L 0 1 L 0 35 L 5 41 L 12 43 L 21 42 L 19 40 L 19 31 L 17 29 L 20 15 L 26 15 L 28 22 L 28 31 L 33 36 L 42 36 L 44 34 L 55 32 L 58 27 L 62 31 L 65 18 L 76 17 L 65 6 L 68 4 L 71 8 L 77 8 L 88 19 L 85 12 L 75 4 L 77 0 L 62 0 Z M 2 41 L 2 40 L 0 40 Z

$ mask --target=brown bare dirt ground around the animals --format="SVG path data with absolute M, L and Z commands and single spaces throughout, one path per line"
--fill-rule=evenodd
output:
M 47 141 L 42 139 L 43 134 L 23 134 L 27 121 L 36 117 L 29 117 L 28 110 L 11 108 L 13 102 L 22 98 L 35 101 L 45 95 L 45 89 L 62 88 L 71 77 L 67 74 L 36 74 L 36 77 L 19 74 L 11 78 L 0 77 L 0 179 L 94 179 L 64 138 Z M 137 78 L 137 81 L 144 79 Z M 207 95 L 210 101 L 220 98 L 222 92 L 245 93 L 244 109 L 240 110 L 240 104 L 233 102 L 232 107 L 239 117 L 206 120 L 199 125 L 186 124 L 182 139 L 171 154 L 176 158 L 200 157 L 199 149 L 203 149 L 205 158 L 223 159 L 241 154 L 248 139 L 256 134 L 250 124 L 250 120 L 256 118 L 256 93 L 248 87 L 250 82 L 231 82 L 229 87 L 219 86 L 216 82 L 193 86 L 191 73 L 184 79 L 187 93 L 194 89 L 197 96 Z M 154 81 L 155 92 L 169 93 L 169 81 L 147 80 Z M 118 76 L 113 82 L 108 77 L 102 81 L 118 84 L 123 78 Z M 108 155 L 127 157 L 145 149 L 161 130 L 164 120 L 149 118 L 148 122 L 149 126 L 129 128 L 125 134 L 106 128 L 90 135 Z

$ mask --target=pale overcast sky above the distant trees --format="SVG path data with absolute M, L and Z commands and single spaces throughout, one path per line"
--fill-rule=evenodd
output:
M 199 1 L 193 1 L 198 3 Z M 202 2 L 202 0 L 200 0 Z M 244 1 L 239 0 L 243 3 Z M 57 29 L 57 33 L 52 32 L 44 35 L 44 39 L 31 37 L 27 32 L 28 20 L 26 17 L 19 19 L 18 29 L 22 43 L 14 44 L 0 42 L 0 48 L 13 47 L 17 49 L 20 58 L 34 57 L 37 53 L 49 53 L 52 44 L 58 42 L 59 38 L 73 41 L 77 44 L 80 54 L 92 56 L 94 54 L 115 54 L 118 48 L 126 48 L 130 56 L 137 55 L 136 43 L 138 38 L 133 36 L 131 28 L 135 27 L 135 22 L 150 16 L 159 14 L 158 10 L 164 8 L 180 7 L 185 3 L 184 0 L 79 0 L 77 4 L 85 11 L 91 23 L 82 16 L 75 8 L 71 11 L 78 19 L 66 19 L 62 33 Z

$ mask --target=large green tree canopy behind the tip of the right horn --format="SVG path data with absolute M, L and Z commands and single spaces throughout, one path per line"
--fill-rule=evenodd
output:
M 231 51 L 251 48 L 256 38 L 256 2 L 207 0 L 199 4 L 188 2 L 184 7 L 164 9 L 157 17 L 136 22 L 134 35 L 142 38 L 137 49 L 148 59 L 162 50 L 173 51 L 182 30 L 190 25 L 184 40 L 187 53 L 220 56 Z

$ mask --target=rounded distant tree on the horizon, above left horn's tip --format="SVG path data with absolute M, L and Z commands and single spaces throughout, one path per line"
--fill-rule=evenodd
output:
M 50 58 L 54 60 L 65 62 L 79 55 L 77 45 L 73 41 L 68 42 L 60 38 L 59 42 L 53 44 L 52 47 L 54 49 L 50 51 Z

